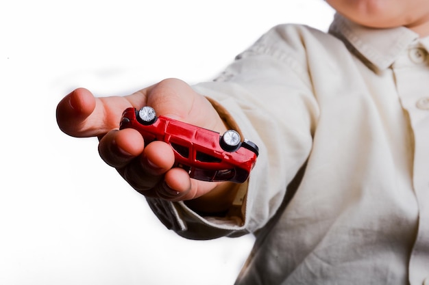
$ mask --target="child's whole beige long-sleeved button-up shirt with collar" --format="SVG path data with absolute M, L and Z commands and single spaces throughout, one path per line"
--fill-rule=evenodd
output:
M 149 204 L 190 239 L 256 234 L 236 284 L 429 284 L 428 50 L 341 16 L 273 28 L 195 86 L 260 147 L 243 215 Z

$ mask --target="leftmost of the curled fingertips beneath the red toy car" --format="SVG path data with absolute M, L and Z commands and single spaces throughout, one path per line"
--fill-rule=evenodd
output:
M 99 143 L 101 159 L 112 167 L 125 167 L 143 152 L 145 141 L 138 131 L 125 128 L 107 133 Z

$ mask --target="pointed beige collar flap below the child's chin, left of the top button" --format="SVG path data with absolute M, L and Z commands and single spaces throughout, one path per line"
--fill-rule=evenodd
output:
M 400 53 L 419 38 L 417 33 L 406 27 L 371 29 L 353 23 L 338 13 L 334 16 L 329 31 L 345 42 L 352 52 L 380 70 L 391 66 Z M 429 38 L 424 40 L 428 48 Z

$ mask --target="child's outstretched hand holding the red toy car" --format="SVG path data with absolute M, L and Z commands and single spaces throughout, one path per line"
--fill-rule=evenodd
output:
M 209 199 L 212 211 L 228 207 L 233 192 L 230 183 L 191 179 L 184 169 L 171 169 L 174 154 L 168 144 L 154 141 L 145 146 L 143 137 L 134 129 L 119 131 L 123 110 L 127 107 L 140 109 L 146 105 L 154 107 L 159 116 L 169 116 L 219 133 L 226 131 L 208 100 L 177 79 L 166 79 L 124 97 L 95 98 L 88 90 L 77 89 L 58 104 L 57 121 L 68 135 L 99 137 L 101 158 L 117 168 L 121 176 L 143 195 L 177 201 L 192 200 L 210 192 L 199 200 L 204 203 Z

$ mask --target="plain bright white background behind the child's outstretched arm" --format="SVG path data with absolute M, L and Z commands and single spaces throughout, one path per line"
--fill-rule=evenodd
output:
M 232 284 L 252 237 L 175 236 L 97 139 L 59 131 L 56 104 L 211 80 L 273 25 L 332 15 L 322 0 L 1 1 L 0 284 Z

